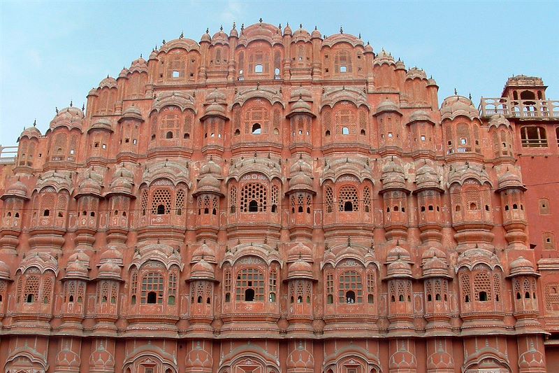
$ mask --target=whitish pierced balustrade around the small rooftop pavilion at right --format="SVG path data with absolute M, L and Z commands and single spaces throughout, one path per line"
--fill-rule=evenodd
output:
M 559 120 L 559 101 L 541 99 L 481 98 L 479 113 L 482 117 L 495 114 L 507 118 Z

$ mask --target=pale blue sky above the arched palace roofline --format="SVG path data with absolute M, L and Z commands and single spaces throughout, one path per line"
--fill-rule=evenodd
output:
M 377 1 L 6 1 L 0 0 L 0 144 L 15 145 L 37 120 L 55 115 L 110 74 L 118 76 L 163 39 L 196 41 L 233 21 L 264 22 L 322 34 L 359 34 L 379 52 L 418 66 L 453 93 L 498 97 L 507 78 L 544 78 L 559 99 L 559 2 Z

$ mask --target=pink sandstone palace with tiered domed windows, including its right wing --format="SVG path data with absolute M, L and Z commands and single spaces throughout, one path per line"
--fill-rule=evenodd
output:
M 545 89 L 440 105 L 342 30 L 164 42 L 0 167 L 1 370 L 552 372 Z

